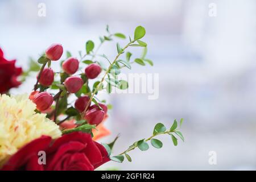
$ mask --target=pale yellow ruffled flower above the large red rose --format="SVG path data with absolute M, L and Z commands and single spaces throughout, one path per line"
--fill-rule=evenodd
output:
M 59 126 L 46 118 L 46 114 L 35 113 L 35 109 L 27 94 L 14 97 L 0 94 L 0 166 L 33 139 L 42 135 L 60 137 Z

